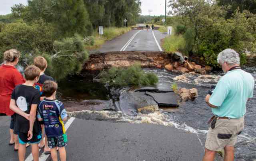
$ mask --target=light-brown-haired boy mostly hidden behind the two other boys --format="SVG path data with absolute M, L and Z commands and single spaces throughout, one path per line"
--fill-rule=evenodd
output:
M 47 65 L 48 65 L 48 63 L 47 63 L 46 59 L 44 59 L 44 57 L 41 57 L 41 56 L 36 57 L 34 59 L 34 65 L 40 69 L 40 77 L 39 77 L 38 82 L 35 83 L 34 87 L 40 91 L 40 100 L 44 100 L 45 95 L 43 93 L 42 86 L 45 81 L 48 81 L 48 80 L 54 81 L 54 79 L 52 77 L 44 74 L 44 72 L 47 68 Z M 45 137 L 45 139 L 44 139 L 44 136 L 45 136 L 44 122 L 40 121 L 39 123 L 41 124 L 42 136 L 43 136 L 43 139 L 39 143 L 39 148 L 41 149 L 44 147 L 44 154 L 50 154 L 50 148 L 48 147 L 47 138 Z

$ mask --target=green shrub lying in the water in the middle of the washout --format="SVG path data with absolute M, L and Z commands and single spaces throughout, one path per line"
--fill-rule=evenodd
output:
M 139 64 L 135 64 L 127 69 L 111 67 L 108 71 L 102 71 L 100 82 L 110 86 L 154 86 L 158 77 L 153 73 L 145 73 Z

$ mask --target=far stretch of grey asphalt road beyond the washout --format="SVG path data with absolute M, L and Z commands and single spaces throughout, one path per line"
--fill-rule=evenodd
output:
M 160 51 L 157 43 L 161 45 L 160 40 L 165 36 L 166 34 L 158 30 L 154 30 L 154 34 L 152 29 L 148 29 L 148 31 L 146 29 L 132 30 L 111 41 L 107 41 L 102 45 L 100 52 L 121 51 L 121 49 L 125 49 L 122 51 Z

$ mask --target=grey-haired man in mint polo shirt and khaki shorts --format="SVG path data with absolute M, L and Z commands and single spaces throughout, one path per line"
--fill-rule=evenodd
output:
M 240 68 L 239 54 L 232 49 L 219 53 L 218 63 L 226 73 L 212 95 L 205 98 L 214 116 L 209 120 L 203 161 L 214 161 L 216 151 L 224 149 L 224 161 L 234 160 L 234 145 L 244 129 L 246 102 L 253 96 L 254 79 Z

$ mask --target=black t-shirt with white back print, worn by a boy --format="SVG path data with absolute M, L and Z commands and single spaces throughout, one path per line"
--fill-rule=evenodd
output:
M 23 112 L 29 114 L 32 104 L 40 104 L 40 93 L 33 86 L 20 84 L 12 91 L 12 99 L 15 100 L 16 106 Z M 16 114 L 15 130 L 26 133 L 29 130 L 29 120 Z M 36 118 L 33 127 L 33 133 L 40 132 L 40 124 Z

